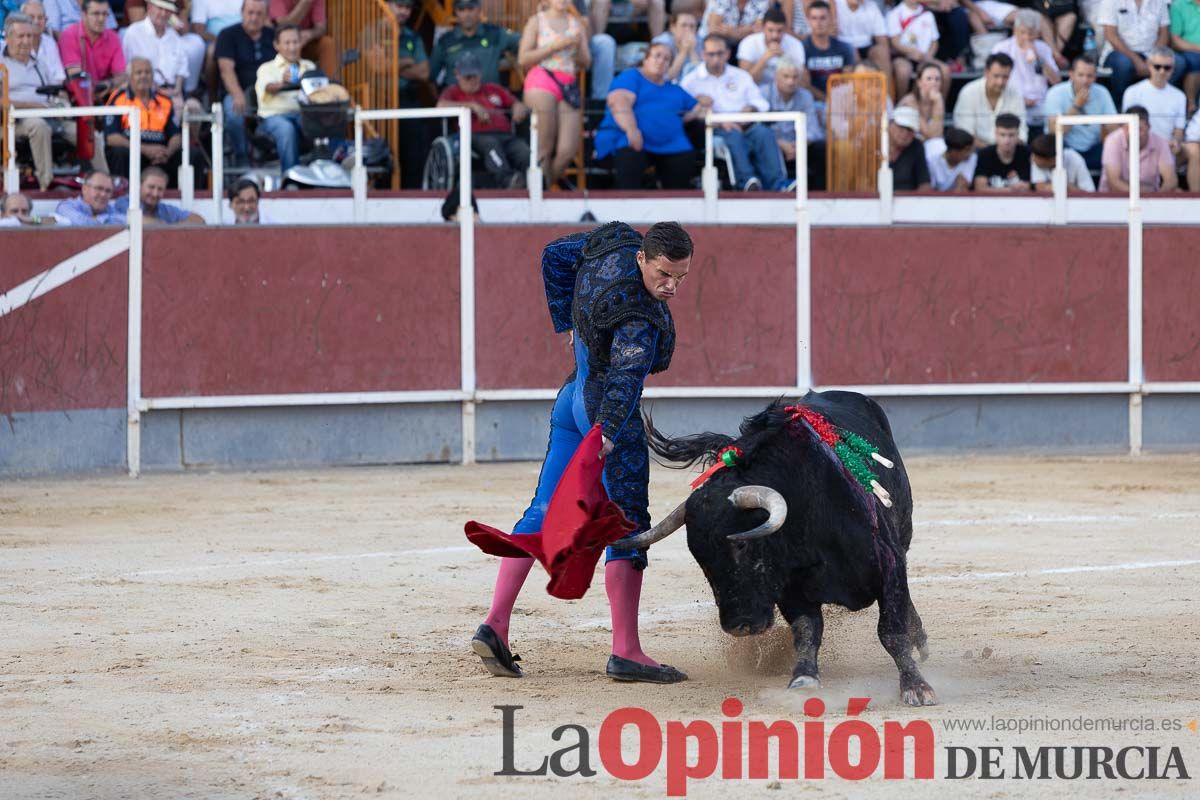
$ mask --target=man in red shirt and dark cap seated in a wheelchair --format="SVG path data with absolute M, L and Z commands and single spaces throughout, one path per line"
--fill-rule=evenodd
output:
M 521 188 L 529 168 L 529 143 L 512 134 L 512 125 L 529 116 L 529 109 L 508 89 L 484 83 L 484 65 L 467 52 L 455 61 L 457 83 L 438 97 L 438 108 L 470 109 L 470 149 L 498 186 Z

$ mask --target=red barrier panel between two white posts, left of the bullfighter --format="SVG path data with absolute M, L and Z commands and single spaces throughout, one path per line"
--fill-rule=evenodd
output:
M 148 231 L 146 397 L 458 389 L 458 231 Z

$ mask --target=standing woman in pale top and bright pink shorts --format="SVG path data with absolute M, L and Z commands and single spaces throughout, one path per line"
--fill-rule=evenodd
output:
M 570 0 L 547 0 L 526 23 L 517 52 L 527 71 L 524 102 L 538 115 L 538 161 L 548 186 L 580 148 L 583 112 L 575 73 L 592 64 L 587 24 L 569 8 Z

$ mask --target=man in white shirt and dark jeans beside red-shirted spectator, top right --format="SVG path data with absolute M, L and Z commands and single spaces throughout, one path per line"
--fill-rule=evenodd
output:
M 1112 70 L 1109 88 L 1118 106 L 1124 100 L 1124 90 L 1135 78 L 1150 77 L 1151 70 L 1146 64 L 1150 50 L 1166 47 L 1170 42 L 1169 6 L 1168 0 L 1104 0 L 1100 4 L 1096 19 L 1104 31 L 1100 64 Z M 1177 70 L 1178 74 L 1171 76 L 1175 83 L 1183 77 L 1182 61 Z

